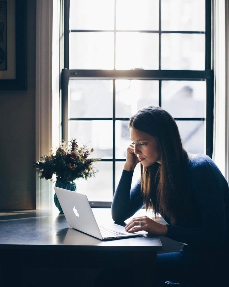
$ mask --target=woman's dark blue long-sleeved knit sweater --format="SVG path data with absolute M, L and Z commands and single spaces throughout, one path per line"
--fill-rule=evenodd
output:
M 112 202 L 112 218 L 123 222 L 144 206 L 140 180 L 131 189 L 132 171 L 122 173 Z M 186 186 L 193 199 L 193 212 L 187 218 L 168 223 L 166 237 L 188 244 L 186 252 L 206 256 L 229 255 L 229 190 L 228 183 L 214 161 L 198 154 L 188 162 Z M 185 191 L 184 191 L 185 192 Z

